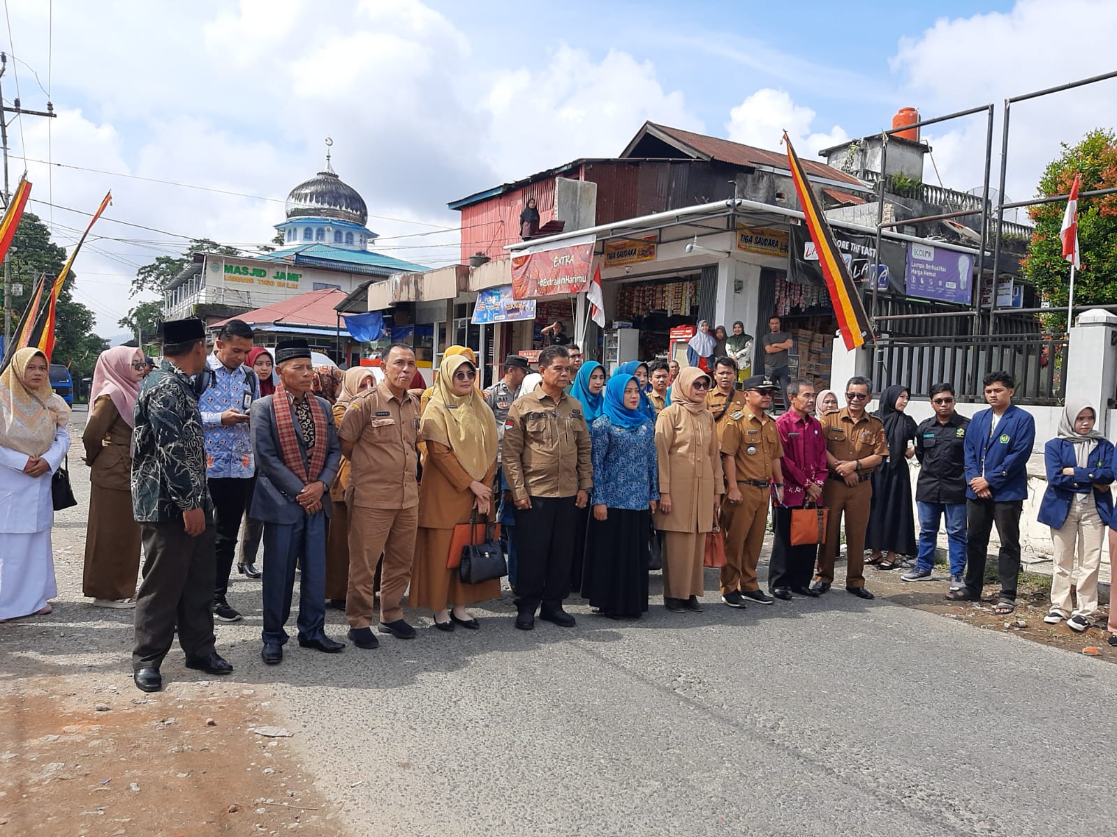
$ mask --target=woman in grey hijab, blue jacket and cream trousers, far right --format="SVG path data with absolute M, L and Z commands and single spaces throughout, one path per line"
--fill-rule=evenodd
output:
M 1059 419 L 1059 434 L 1043 449 L 1048 487 L 1039 521 L 1051 527 L 1054 573 L 1051 576 L 1049 625 L 1063 619 L 1081 633 L 1094 624 L 1098 609 L 1098 569 L 1106 522 L 1113 519 L 1114 446 L 1097 429 L 1097 410 L 1085 401 L 1069 401 Z M 1075 557 L 1078 557 L 1078 607 L 1070 598 Z M 1110 605 L 1113 609 L 1113 605 Z

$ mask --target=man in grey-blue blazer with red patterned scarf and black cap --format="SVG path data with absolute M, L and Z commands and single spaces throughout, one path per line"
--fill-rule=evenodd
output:
M 306 340 L 276 346 L 279 384 L 252 404 L 257 480 L 251 517 L 264 521 L 264 648 L 275 665 L 287 642 L 295 564 L 303 570 L 298 644 L 335 654 L 345 647 L 326 636 L 326 526 L 330 484 L 342 449 L 330 402 L 311 395 L 314 368 Z

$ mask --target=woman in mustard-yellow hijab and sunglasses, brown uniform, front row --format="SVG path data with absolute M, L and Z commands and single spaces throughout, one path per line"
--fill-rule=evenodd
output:
M 477 368 L 464 355 L 443 356 L 435 394 L 422 416 L 419 435 L 427 443 L 427 464 L 419 484 L 419 535 L 411 574 L 411 607 L 429 607 L 435 627 L 470 631 L 480 623 L 466 609 L 475 602 L 500 597 L 500 579 L 464 584 L 458 569 L 447 569 L 454 527 L 476 511 L 491 516 L 496 475 L 496 420 L 474 385 Z

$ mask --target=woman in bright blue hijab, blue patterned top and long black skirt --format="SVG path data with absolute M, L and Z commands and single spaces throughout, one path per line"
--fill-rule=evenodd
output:
M 613 375 L 592 425 L 593 519 L 582 596 L 611 619 L 648 612 L 648 538 L 659 500 L 656 430 L 640 410 L 640 383 Z

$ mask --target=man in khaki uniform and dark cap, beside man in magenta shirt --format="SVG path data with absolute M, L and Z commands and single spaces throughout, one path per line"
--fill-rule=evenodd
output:
M 775 602 L 761 590 L 756 564 L 767 527 L 771 487 L 775 485 L 779 502 L 783 498 L 783 446 L 775 420 L 765 412 L 775 384 L 765 375 L 753 375 L 745 378 L 744 387 L 744 410 L 728 414 L 722 430 L 726 491 L 719 521 L 725 532 L 722 600 L 729 607 L 744 607 L 746 598 L 762 605 Z

